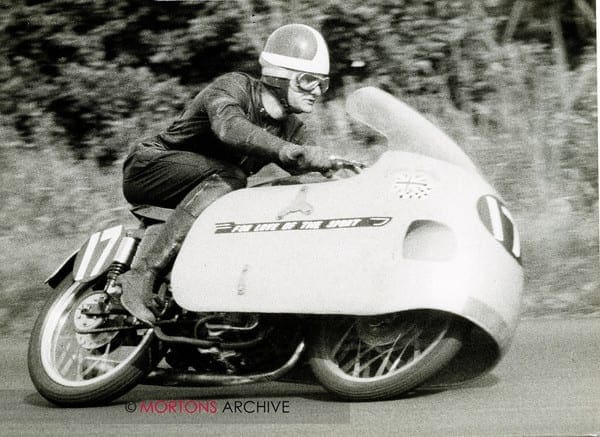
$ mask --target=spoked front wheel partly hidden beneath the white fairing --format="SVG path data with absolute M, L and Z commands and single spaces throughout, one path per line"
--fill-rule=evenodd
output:
M 352 401 L 388 399 L 441 370 L 462 346 L 452 316 L 411 311 L 320 324 L 310 366 L 331 393 Z

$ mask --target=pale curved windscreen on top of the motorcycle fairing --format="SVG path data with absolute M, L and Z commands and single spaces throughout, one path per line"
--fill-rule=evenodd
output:
M 346 101 L 346 111 L 387 138 L 388 150 L 411 152 L 446 161 L 469 172 L 473 162 L 446 134 L 417 111 L 378 88 L 361 88 Z

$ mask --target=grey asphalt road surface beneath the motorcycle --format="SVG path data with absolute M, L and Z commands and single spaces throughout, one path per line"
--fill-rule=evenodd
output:
M 29 381 L 25 343 L 0 341 L 0 435 L 600 435 L 599 318 L 525 320 L 490 374 L 373 403 L 335 401 L 318 386 L 271 383 L 139 386 L 107 407 L 61 409 Z M 192 400 L 217 412 L 149 412 L 151 401 L 164 409 L 163 400 Z M 236 412 L 236 401 L 250 412 Z

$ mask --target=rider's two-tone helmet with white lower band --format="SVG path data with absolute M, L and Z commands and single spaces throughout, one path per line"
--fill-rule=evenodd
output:
M 291 79 L 294 72 L 327 76 L 329 51 L 323 36 L 304 24 L 287 24 L 269 36 L 260 54 L 262 75 Z

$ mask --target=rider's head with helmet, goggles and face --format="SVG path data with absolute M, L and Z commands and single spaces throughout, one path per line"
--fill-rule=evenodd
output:
M 329 87 L 329 51 L 310 26 L 288 24 L 269 36 L 259 59 L 262 82 L 290 112 L 311 112 Z

